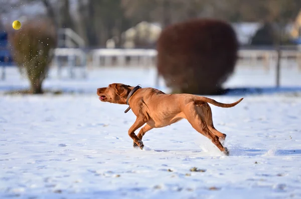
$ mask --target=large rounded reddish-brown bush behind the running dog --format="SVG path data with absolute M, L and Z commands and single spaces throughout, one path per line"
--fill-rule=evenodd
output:
M 159 74 L 173 92 L 212 95 L 234 71 L 238 42 L 229 24 L 196 19 L 163 30 L 157 50 Z

